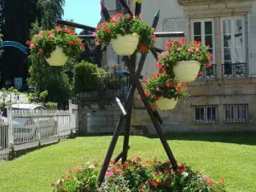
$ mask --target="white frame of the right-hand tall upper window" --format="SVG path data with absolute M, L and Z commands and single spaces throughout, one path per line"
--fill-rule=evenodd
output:
M 244 59 L 244 63 L 247 63 L 247 49 L 246 49 L 246 22 L 245 22 L 245 16 L 233 16 L 233 17 L 222 17 L 220 18 L 220 28 L 221 28 L 221 60 L 222 60 L 222 64 L 224 64 L 224 28 L 223 28 L 223 21 L 224 20 L 240 20 L 241 19 L 241 23 L 242 23 L 242 49 L 243 49 L 243 59 Z M 235 30 L 234 30 L 234 25 L 231 24 L 231 46 L 232 46 L 232 52 L 231 52 L 231 61 L 232 63 L 235 63 L 236 61 L 234 61 L 234 57 L 232 57 L 232 55 L 234 55 L 235 53 L 235 46 L 233 45 L 234 43 L 234 37 L 235 37 Z M 233 40 L 232 40 L 233 39 Z

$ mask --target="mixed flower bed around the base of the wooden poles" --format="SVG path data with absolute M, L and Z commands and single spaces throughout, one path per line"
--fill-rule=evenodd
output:
M 218 182 L 193 172 L 184 164 L 172 171 L 169 161 L 148 160 L 139 157 L 127 160 L 125 164 L 110 164 L 102 185 L 97 177 L 99 166 L 87 163 L 83 167 L 69 169 L 69 172 L 53 183 L 54 192 L 224 192 L 224 178 Z

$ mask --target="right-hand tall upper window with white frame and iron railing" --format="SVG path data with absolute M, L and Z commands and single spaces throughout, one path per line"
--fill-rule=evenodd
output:
M 243 17 L 221 20 L 224 77 L 246 76 L 245 21 Z

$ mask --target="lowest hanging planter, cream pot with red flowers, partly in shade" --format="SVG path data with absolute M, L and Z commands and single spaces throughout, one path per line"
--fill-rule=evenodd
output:
M 171 79 L 166 73 L 155 73 L 153 77 L 143 82 L 143 90 L 148 101 L 156 103 L 160 110 L 176 107 L 177 100 L 187 98 L 187 84 Z

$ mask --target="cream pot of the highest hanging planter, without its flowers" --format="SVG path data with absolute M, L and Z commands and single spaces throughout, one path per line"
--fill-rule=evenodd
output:
M 111 44 L 117 55 L 132 55 L 137 49 L 139 38 L 136 34 L 118 35 L 117 38 L 111 40 Z

